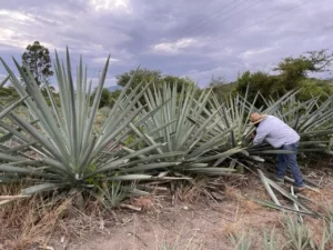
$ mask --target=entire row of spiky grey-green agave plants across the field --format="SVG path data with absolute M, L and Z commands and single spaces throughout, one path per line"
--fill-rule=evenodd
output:
M 278 101 L 258 93 L 256 98 L 266 103 L 261 108 L 255 107 L 255 100 L 250 103 L 246 96 L 221 102 L 211 90 L 199 98 L 194 98 L 195 88 L 183 87 L 179 93 L 176 83 L 164 83 L 161 89 L 153 82 L 142 82 L 130 89 L 131 79 L 102 124 L 95 126 L 100 123 L 98 107 L 109 59 L 92 94 L 92 82 L 82 60 L 73 77 L 69 52 L 65 62 L 56 53 L 60 104 L 46 84 L 48 102 L 33 76 L 17 61 L 21 79 L 1 61 L 9 74 L 1 88 L 10 80 L 21 97 L 0 110 L 0 183 L 23 182 L 26 187 L 17 198 L 53 190 L 84 191 L 99 197 L 101 192 L 110 193 L 105 189 L 112 189 L 113 193 L 114 187 L 117 191 L 141 194 L 144 192 L 137 189 L 140 186 L 129 183 L 188 180 L 195 174 L 232 176 L 238 172 L 236 166 L 253 168 L 255 162 L 264 161 L 265 154 L 289 153 L 266 144 L 252 146 L 249 140 L 254 129 L 249 124 L 252 111 L 278 116 L 299 131 L 300 151 L 332 153 L 332 141 L 327 139 L 333 132 L 332 97 L 320 103 L 316 98 L 297 102 L 296 91 Z M 22 103 L 32 120 L 16 112 Z M 124 146 L 133 134 L 134 140 Z M 9 147 L 8 140 L 18 146 Z M 270 183 L 274 186 L 273 181 Z M 296 202 L 291 194 L 286 196 Z M 275 206 L 281 207 L 279 202 Z M 311 213 L 306 206 L 300 207 Z

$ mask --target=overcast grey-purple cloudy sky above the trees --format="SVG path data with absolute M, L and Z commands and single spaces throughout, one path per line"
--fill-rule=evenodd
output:
M 52 53 L 69 46 L 73 63 L 82 54 L 90 78 L 111 53 L 108 86 L 141 64 L 204 87 L 333 49 L 332 12 L 332 0 L 1 0 L 0 56 L 11 63 L 38 40 Z

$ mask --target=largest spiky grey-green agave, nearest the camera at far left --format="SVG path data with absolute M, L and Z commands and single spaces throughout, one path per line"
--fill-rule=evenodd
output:
M 20 149 L 33 150 L 34 157 L 28 159 L 22 153 L 14 154 L 11 149 L 1 148 L 1 183 L 24 180 L 31 187 L 23 189 L 22 193 L 30 196 L 53 189 L 68 190 L 74 188 L 91 191 L 91 188 L 98 181 L 153 179 L 152 176 L 135 174 L 144 172 L 144 168 L 149 168 L 149 166 L 137 166 L 137 163 L 130 163 L 129 161 L 138 159 L 138 157 L 140 158 L 143 153 L 152 150 L 160 150 L 164 146 L 163 143 L 157 142 L 133 152 L 121 149 L 121 141 L 137 129 L 132 121 L 143 111 L 144 107 L 133 108 L 148 86 L 142 89 L 141 86 L 138 86 L 129 97 L 124 98 L 127 90 L 130 88 L 130 80 L 113 108 L 109 111 L 103 124 L 100 128 L 94 126 L 109 67 L 109 58 L 91 103 L 92 82 L 88 82 L 87 69 L 83 69 L 82 60 L 80 60 L 77 68 L 74 80 L 69 51 L 67 50 L 65 63 L 60 61 L 56 52 L 54 71 L 59 86 L 59 106 L 57 106 L 48 84 L 46 84 L 46 88 L 51 106 L 48 106 L 41 89 L 29 70 L 24 71 L 14 60 L 24 81 L 26 87 L 23 87 L 1 59 L 13 87 L 21 97 L 19 102 L 24 101 L 29 112 L 37 120 L 32 124 L 11 112 L 10 110 L 17 103 L 2 108 L 0 114 L 7 113 L 7 118 L 12 123 L 8 126 L 1 122 L 1 130 L 17 138 L 21 142 Z M 151 113 L 147 112 L 144 117 L 141 117 L 140 122 L 144 123 L 150 116 Z M 163 157 L 167 159 L 169 156 Z M 145 162 L 148 161 L 143 163 Z M 175 163 L 169 161 L 160 164 L 168 167 Z M 127 172 L 120 171 L 124 168 Z

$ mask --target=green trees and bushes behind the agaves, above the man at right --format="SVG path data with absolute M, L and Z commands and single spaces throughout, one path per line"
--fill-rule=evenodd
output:
M 332 87 L 326 81 L 309 79 L 307 73 L 326 71 L 332 59 L 333 54 L 329 54 L 326 50 L 311 51 L 299 58 L 285 58 L 275 68 L 280 74 L 245 71 L 238 78 L 235 91 L 245 94 L 249 86 L 249 99 L 252 101 L 258 91 L 264 97 L 278 100 L 287 91 L 301 89 L 299 98 L 302 101 L 312 97 L 321 97 L 321 100 L 325 100 L 327 94 L 332 93 Z M 264 103 L 259 99 L 256 106 L 264 106 Z

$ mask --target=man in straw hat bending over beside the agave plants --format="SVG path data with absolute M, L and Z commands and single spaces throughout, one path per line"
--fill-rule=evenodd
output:
M 260 114 L 254 112 L 250 120 L 256 127 L 256 134 L 252 134 L 253 143 L 260 144 L 264 140 L 276 149 L 292 151 L 293 153 L 278 154 L 276 182 L 284 183 L 286 167 L 291 168 L 295 183 L 295 191 L 305 189 L 300 167 L 297 166 L 297 148 L 300 136 L 295 130 L 285 124 L 274 116 Z

